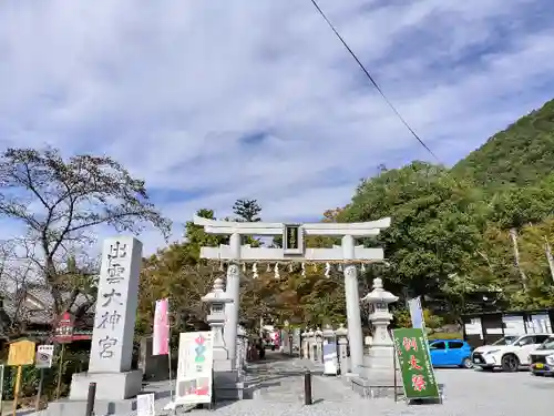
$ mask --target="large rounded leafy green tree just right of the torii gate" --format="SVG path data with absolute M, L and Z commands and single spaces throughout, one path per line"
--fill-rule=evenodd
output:
M 442 280 L 472 264 L 486 225 L 488 207 L 481 201 L 479 190 L 445 168 L 413 162 L 362 181 L 339 220 L 392 216 L 378 239 L 390 263 L 383 276 L 412 295 L 438 294 Z

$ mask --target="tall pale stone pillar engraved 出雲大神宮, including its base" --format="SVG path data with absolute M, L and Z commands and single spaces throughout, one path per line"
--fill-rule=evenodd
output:
M 130 236 L 107 239 L 102 252 L 89 372 L 74 374 L 71 399 L 124 399 L 142 388 L 142 372 L 131 371 L 138 298 L 142 243 Z

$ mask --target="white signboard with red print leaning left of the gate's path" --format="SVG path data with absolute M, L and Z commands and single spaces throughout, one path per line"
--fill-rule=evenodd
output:
M 175 404 L 212 403 L 214 344 L 212 332 L 179 336 Z

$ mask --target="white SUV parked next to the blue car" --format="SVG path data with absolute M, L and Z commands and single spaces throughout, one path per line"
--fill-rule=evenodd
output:
M 475 367 L 484 371 L 502 368 L 504 372 L 516 372 L 529 366 L 530 353 L 536 349 L 552 334 L 506 335 L 492 345 L 483 345 L 473 351 L 471 361 Z

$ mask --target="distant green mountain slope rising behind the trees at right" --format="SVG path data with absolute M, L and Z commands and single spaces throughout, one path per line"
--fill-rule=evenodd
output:
M 494 134 L 452 171 L 488 189 L 527 186 L 554 173 L 554 100 Z

